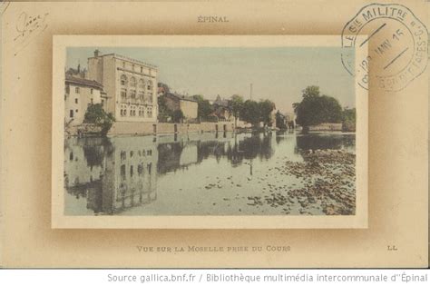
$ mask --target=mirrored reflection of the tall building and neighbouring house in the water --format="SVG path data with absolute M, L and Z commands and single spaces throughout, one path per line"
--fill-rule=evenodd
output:
M 157 199 L 157 144 L 150 136 L 69 139 L 64 145 L 67 202 L 86 198 L 88 214 L 123 212 Z M 80 212 L 66 207 L 67 214 Z M 82 214 L 82 213 L 80 213 Z

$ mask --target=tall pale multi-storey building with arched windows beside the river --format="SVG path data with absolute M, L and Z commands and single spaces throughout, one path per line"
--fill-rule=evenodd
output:
M 157 74 L 155 65 L 119 54 L 100 54 L 88 59 L 88 78 L 103 84 L 105 110 L 117 122 L 157 122 Z

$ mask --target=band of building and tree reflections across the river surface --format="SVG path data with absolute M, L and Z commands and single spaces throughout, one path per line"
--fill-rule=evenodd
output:
M 164 175 L 182 180 L 184 173 L 179 171 L 210 159 L 227 170 L 243 166 L 252 176 L 256 164 L 272 160 L 283 145 L 294 145 L 295 152 L 354 148 L 355 135 L 190 133 L 70 138 L 64 142 L 65 214 L 116 214 L 145 207 L 157 200 L 158 180 Z

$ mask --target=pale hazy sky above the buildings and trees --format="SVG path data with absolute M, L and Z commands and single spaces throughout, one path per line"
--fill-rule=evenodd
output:
M 337 47 L 70 47 L 67 67 L 87 67 L 88 57 L 122 54 L 158 66 L 158 81 L 181 94 L 217 94 L 230 98 L 268 98 L 281 112 L 292 112 L 301 91 L 318 85 L 321 94 L 337 98 L 342 107 L 355 107 L 354 77 L 343 67 Z

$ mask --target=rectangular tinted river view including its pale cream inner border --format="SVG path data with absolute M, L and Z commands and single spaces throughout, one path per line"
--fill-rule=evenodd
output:
M 366 228 L 339 39 L 54 36 L 53 227 Z

